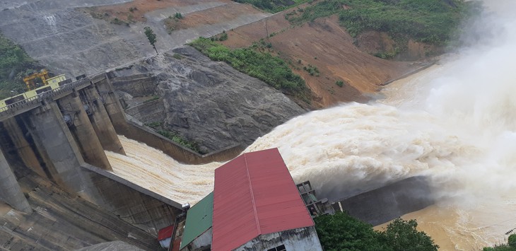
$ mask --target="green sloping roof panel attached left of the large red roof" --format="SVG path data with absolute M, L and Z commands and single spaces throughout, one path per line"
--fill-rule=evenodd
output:
M 211 228 L 213 223 L 213 192 L 206 195 L 204 199 L 197 202 L 187 212 L 187 222 L 184 223 L 183 238 L 181 247 L 186 247 L 195 238 Z

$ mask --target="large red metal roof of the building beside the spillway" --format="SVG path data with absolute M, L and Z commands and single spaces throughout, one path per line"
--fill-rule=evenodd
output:
M 211 250 L 307 226 L 314 221 L 277 148 L 245 153 L 215 170 Z

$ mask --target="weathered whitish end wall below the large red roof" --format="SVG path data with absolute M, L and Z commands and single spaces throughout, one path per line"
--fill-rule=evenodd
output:
M 238 251 L 264 251 L 285 245 L 287 251 L 322 251 L 315 227 L 295 228 L 278 233 L 260 235 L 238 247 Z

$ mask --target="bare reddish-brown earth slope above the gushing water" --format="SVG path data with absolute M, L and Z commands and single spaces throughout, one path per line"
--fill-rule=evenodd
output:
M 362 93 L 374 93 L 381 83 L 401 76 L 412 68 L 407 62 L 387 61 L 358 49 L 353 45 L 353 38 L 339 25 L 336 16 L 291 26 L 283 13 L 228 32 L 229 38 L 223 44 L 230 47 L 249 46 L 262 38 L 266 40 L 269 33 L 270 38 L 266 42 L 271 42 L 272 49 L 280 57 L 291 60 L 291 68 L 305 78 L 317 96 L 315 105 L 318 107 L 365 101 L 367 98 Z M 303 70 L 309 64 L 317 67 L 319 76 L 310 76 Z M 339 80 L 345 82 L 342 88 L 335 84 Z

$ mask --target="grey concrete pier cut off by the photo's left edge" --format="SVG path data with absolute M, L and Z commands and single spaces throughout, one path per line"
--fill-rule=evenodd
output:
M 11 205 L 14 209 L 30 213 L 30 208 L 25 195 L 21 192 L 20 185 L 9 167 L 4 153 L 0 151 L 0 199 Z

